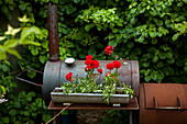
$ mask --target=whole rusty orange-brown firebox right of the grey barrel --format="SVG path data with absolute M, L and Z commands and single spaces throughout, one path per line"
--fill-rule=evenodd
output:
M 142 83 L 140 124 L 187 124 L 187 84 Z

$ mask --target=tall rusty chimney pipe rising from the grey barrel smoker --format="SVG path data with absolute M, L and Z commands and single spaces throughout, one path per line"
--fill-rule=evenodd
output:
M 58 43 L 58 10 L 57 5 L 47 5 L 47 24 L 48 24 L 48 49 L 50 60 L 59 60 Z

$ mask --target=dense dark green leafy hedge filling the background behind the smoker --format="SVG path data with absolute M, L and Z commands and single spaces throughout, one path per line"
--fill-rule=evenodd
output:
M 112 45 L 114 50 L 108 59 L 118 56 L 139 60 L 141 82 L 187 82 L 187 0 L 52 1 L 58 5 L 62 60 L 85 59 L 88 54 L 98 60 L 106 59 L 101 52 Z M 47 4 L 47 0 L 0 1 L 0 36 L 9 23 L 23 26 L 18 16 L 24 14 L 30 19 L 26 26 L 36 25 L 44 34 L 30 36 L 41 46 L 16 47 L 22 59 L 9 56 L 9 63 L 0 64 L 0 84 L 9 99 L 0 104 L 0 124 L 41 120 L 41 88 L 14 80 L 14 72 L 25 68 L 44 70 L 48 59 Z M 29 80 L 36 78 L 35 71 L 28 70 Z M 42 83 L 42 78 L 37 82 Z M 44 120 L 51 117 L 44 106 Z

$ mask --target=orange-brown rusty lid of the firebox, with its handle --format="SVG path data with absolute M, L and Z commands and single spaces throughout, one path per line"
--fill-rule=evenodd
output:
M 187 84 L 143 83 L 146 109 L 187 109 Z

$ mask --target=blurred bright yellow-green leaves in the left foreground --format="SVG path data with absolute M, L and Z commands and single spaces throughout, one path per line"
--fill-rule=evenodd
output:
M 19 19 L 22 22 L 26 22 L 26 16 L 24 15 L 23 19 Z M 21 32 L 20 38 L 14 38 L 14 36 Z M 36 45 L 40 46 L 38 43 L 33 42 L 28 40 L 28 36 L 31 34 L 40 34 L 42 35 L 42 32 L 38 27 L 36 26 L 31 26 L 31 27 L 19 27 L 19 29 L 13 29 L 11 25 L 8 25 L 8 31 L 4 32 L 3 36 L 0 36 L 0 41 L 3 42 L 3 44 L 0 44 L 0 60 L 6 60 L 7 61 L 7 53 L 15 55 L 18 58 L 21 59 L 21 56 L 14 48 L 18 45 Z M 8 38 L 8 36 L 11 36 L 11 38 Z

